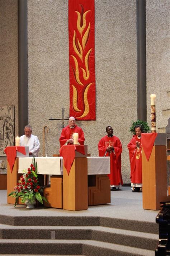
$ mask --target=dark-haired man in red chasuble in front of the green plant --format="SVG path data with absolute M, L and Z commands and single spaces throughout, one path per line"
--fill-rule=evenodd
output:
M 140 192 L 142 187 L 142 145 L 141 134 L 143 132 L 142 125 L 138 124 L 134 127 L 136 135 L 129 142 L 129 158 L 131 163 L 131 186 L 132 192 Z

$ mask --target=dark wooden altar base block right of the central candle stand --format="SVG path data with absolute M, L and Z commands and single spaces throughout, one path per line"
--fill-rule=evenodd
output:
M 108 175 L 88 175 L 88 204 L 110 203 L 110 180 Z

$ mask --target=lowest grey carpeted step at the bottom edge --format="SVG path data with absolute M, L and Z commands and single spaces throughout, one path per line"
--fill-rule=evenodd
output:
M 88 255 L 88 256 L 154 256 L 146 250 L 94 240 L 0 239 L 0 254 L 13 255 Z

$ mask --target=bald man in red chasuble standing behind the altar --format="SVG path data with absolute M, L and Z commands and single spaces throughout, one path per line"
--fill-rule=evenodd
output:
M 69 118 L 69 125 L 62 129 L 60 136 L 60 147 L 63 145 L 73 145 L 73 133 L 79 134 L 78 142 L 80 145 L 84 145 L 84 132 L 82 129 L 75 124 L 76 120 L 73 116 Z

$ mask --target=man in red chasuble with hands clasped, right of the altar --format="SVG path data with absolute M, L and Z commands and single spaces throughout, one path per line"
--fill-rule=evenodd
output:
M 122 144 L 118 137 L 113 135 L 111 126 L 106 127 L 107 135 L 101 138 L 98 144 L 99 156 L 110 156 L 110 186 L 117 190 L 123 184 L 121 174 Z

